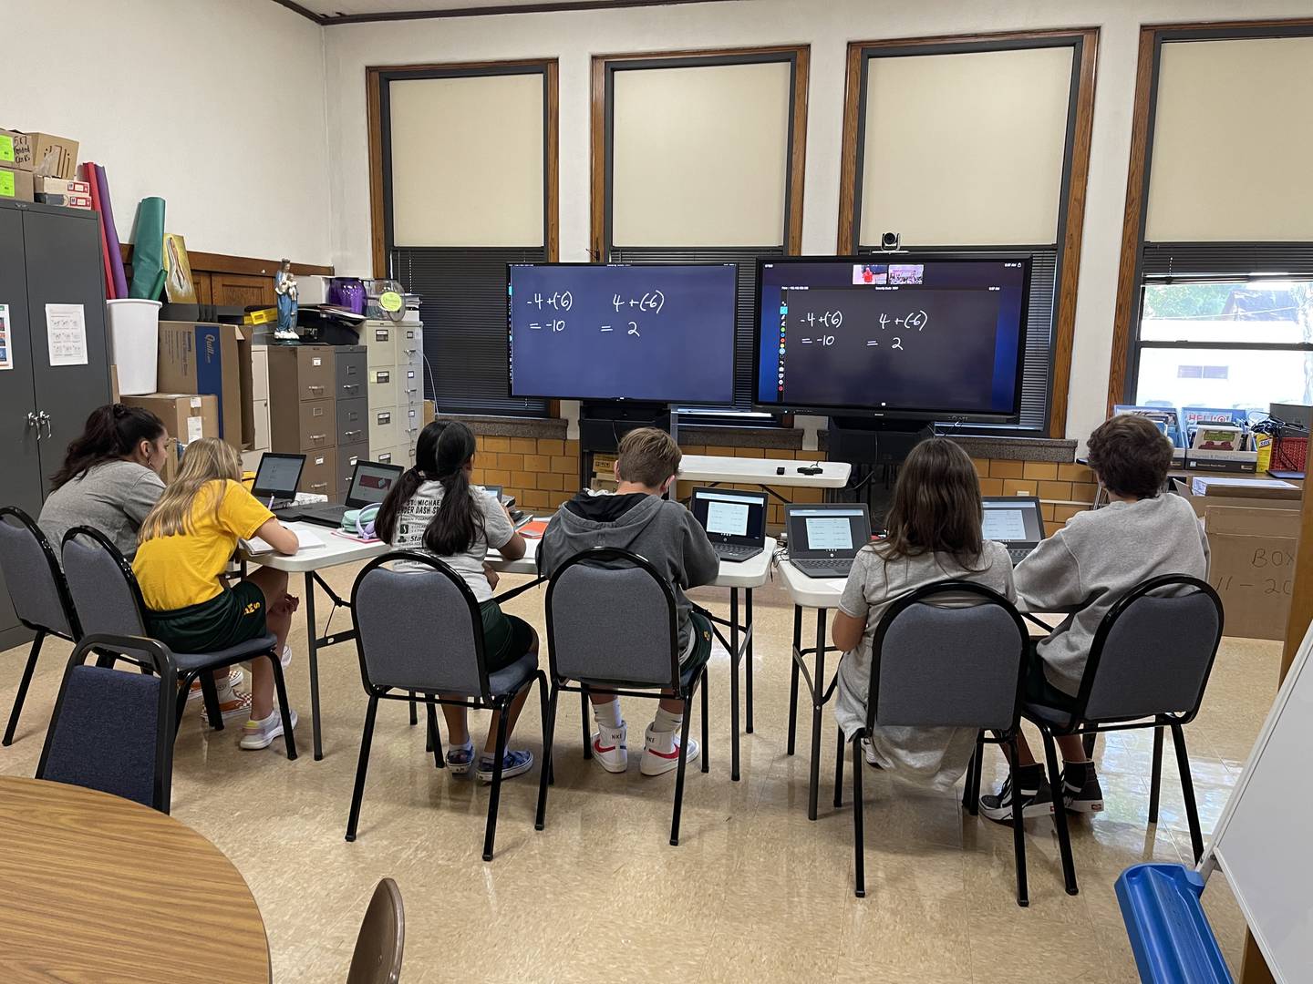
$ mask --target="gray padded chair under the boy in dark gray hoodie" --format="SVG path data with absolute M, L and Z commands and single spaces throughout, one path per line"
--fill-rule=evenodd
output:
M 645 558 L 628 550 L 593 547 L 575 554 L 548 584 L 548 660 L 551 697 L 548 701 L 548 739 L 538 777 L 538 816 L 546 824 L 548 786 L 551 781 L 551 737 L 562 690 L 580 694 L 584 758 L 592 758 L 590 693 L 660 699 L 663 691 L 684 702 L 684 729 L 675 774 L 675 812 L 670 842 L 679 846 L 679 819 L 684 804 L 684 768 L 693 694 L 702 690 L 702 771 L 706 750 L 706 660 L 679 663 L 679 621 L 675 592 Z M 574 685 L 570 681 L 575 681 Z

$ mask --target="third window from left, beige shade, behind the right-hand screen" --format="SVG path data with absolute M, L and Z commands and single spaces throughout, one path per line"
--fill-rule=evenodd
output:
M 1048 434 L 1054 401 L 1065 411 L 1066 392 L 1053 392 L 1066 378 L 1058 306 L 1071 185 L 1087 163 L 1086 148 L 1074 178 L 1092 45 L 1081 31 L 850 49 L 840 251 L 878 253 L 882 234 L 897 232 L 918 253 L 1031 257 L 1019 420 L 966 430 Z

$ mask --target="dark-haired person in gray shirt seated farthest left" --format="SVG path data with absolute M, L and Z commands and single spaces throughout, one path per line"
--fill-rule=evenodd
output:
M 164 492 L 159 474 L 167 440 L 160 419 L 142 407 L 113 403 L 92 411 L 63 467 L 50 476 L 55 491 L 41 509 L 38 525 L 55 552 L 74 526 L 100 530 L 129 559 L 137 552 L 137 531 Z

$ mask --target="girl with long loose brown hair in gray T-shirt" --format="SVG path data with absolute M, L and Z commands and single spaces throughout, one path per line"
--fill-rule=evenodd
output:
M 871 646 L 893 602 L 945 580 L 977 581 L 1016 600 L 1012 562 L 982 538 L 981 520 L 979 479 L 966 453 L 940 437 L 916 445 L 898 471 L 888 535 L 857 552 L 834 615 L 834 644 L 844 651 L 834 716 L 846 735 L 867 724 Z M 974 750 L 974 728 L 877 726 L 867 761 L 948 789 Z

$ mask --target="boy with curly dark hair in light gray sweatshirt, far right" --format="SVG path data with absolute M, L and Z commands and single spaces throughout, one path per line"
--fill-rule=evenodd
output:
M 1163 493 L 1171 442 L 1145 417 L 1119 415 L 1090 434 L 1090 467 L 1108 493 L 1108 505 L 1078 513 L 1043 541 L 1014 575 L 1016 596 L 1028 611 L 1067 617 L 1036 646 L 1025 699 L 1067 710 L 1075 703 L 1090 647 L 1103 617 L 1128 590 L 1158 575 L 1208 576 L 1208 539 L 1195 510 L 1180 496 Z M 1062 802 L 1049 790 L 1044 766 L 1018 737 L 1018 785 L 1023 815 L 1046 815 L 1054 806 L 1082 813 L 1103 810 L 1103 790 L 1079 735 L 1057 740 L 1066 768 Z M 1011 820 L 1011 783 L 982 796 L 991 820 Z

